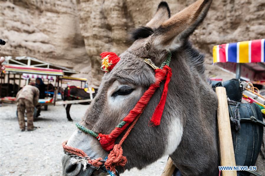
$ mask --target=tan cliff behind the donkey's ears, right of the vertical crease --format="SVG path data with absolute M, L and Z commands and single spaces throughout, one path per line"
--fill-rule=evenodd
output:
M 160 1 L 77 1 L 81 33 L 86 50 L 93 62 L 92 68 L 100 74 L 98 54 L 102 51 L 122 53 L 131 28 L 147 24 Z M 167 0 L 174 15 L 195 0 Z M 191 36 L 195 47 L 205 53 L 208 75 L 226 79 L 233 75 L 212 65 L 214 45 L 254 40 L 265 36 L 265 1 L 218 0 L 213 1 L 203 24 Z

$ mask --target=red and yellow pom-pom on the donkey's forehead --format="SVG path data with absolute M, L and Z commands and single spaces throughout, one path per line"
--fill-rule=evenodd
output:
M 121 59 L 112 52 L 103 52 L 100 56 L 102 58 L 101 70 L 105 72 L 110 72 Z

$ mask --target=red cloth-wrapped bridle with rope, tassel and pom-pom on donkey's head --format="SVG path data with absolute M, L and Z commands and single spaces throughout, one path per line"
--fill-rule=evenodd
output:
M 120 60 L 119 58 L 117 58 L 118 56 L 115 53 L 104 52 L 104 54 L 102 56 L 102 58 L 104 57 L 104 63 L 105 63 L 105 65 L 104 65 L 105 70 L 104 71 L 106 71 L 106 70 L 111 71 L 111 69 L 113 68 L 113 67 L 111 68 L 112 64 L 114 66 L 116 65 L 115 62 L 112 62 L 111 64 L 107 63 L 108 62 L 108 56 L 111 56 L 110 58 L 112 59 L 112 61 L 118 62 Z M 170 57 L 168 57 L 168 58 L 169 59 L 171 58 L 171 53 L 170 53 Z M 160 69 L 160 68 L 156 67 L 154 65 L 154 63 L 152 63 L 152 61 L 149 59 L 144 59 L 144 62 L 149 64 L 154 69 L 155 82 L 149 86 L 149 88 L 144 92 L 144 94 L 142 95 L 140 100 L 136 103 L 135 107 L 123 119 L 123 121 L 122 121 L 123 125 L 122 126 L 117 126 L 115 129 L 113 129 L 111 131 L 110 134 L 99 133 L 97 136 L 102 148 L 106 151 L 111 150 L 110 154 L 108 155 L 108 159 L 105 162 L 105 167 L 106 167 L 106 169 L 111 170 L 113 172 L 115 172 L 115 166 L 116 165 L 124 166 L 126 164 L 127 159 L 125 156 L 122 155 L 123 151 L 122 151 L 121 145 L 124 142 L 124 140 L 127 138 L 127 136 L 129 135 L 131 129 L 134 127 L 134 125 L 137 122 L 137 120 L 139 119 L 141 113 L 144 111 L 145 107 L 147 106 L 150 99 L 154 95 L 156 89 L 160 86 L 160 83 L 165 80 L 164 90 L 163 90 L 163 93 L 161 95 L 161 99 L 160 99 L 156 109 L 154 110 L 154 113 L 153 113 L 152 118 L 151 118 L 150 123 L 149 123 L 150 126 L 160 125 L 162 113 L 163 113 L 166 98 L 167 98 L 168 84 L 169 84 L 169 81 L 170 81 L 171 76 L 172 76 L 172 70 L 168 65 L 165 65 L 162 69 Z M 109 69 L 109 68 L 111 68 L 111 69 Z M 127 129 L 127 131 L 124 134 L 121 141 L 115 145 L 116 138 L 118 138 L 118 136 L 129 125 L 130 125 L 130 127 Z M 79 129 L 81 129 L 82 131 L 89 133 L 89 134 L 91 134 L 90 132 L 92 132 L 91 130 L 86 129 L 83 126 L 81 126 Z M 66 152 L 74 153 L 75 155 L 78 155 L 81 157 L 87 156 L 85 154 L 85 152 L 83 152 L 82 150 L 67 146 L 66 144 L 67 144 L 67 141 L 65 141 L 63 143 L 63 149 Z M 97 160 L 98 161 L 102 160 L 102 158 L 98 158 Z M 88 163 L 93 165 L 93 163 L 91 161 L 88 161 Z M 101 164 L 103 164 L 103 163 L 101 163 Z M 97 167 L 98 167 L 98 163 L 97 163 Z

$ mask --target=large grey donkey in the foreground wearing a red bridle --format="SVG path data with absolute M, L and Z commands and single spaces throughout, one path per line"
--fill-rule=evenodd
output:
M 128 162 L 124 168 L 117 167 L 119 172 L 133 167 L 142 169 L 163 155 L 169 155 L 182 175 L 218 175 L 218 100 L 204 73 L 203 54 L 188 41 L 205 18 L 210 4 L 211 0 L 196 1 L 170 17 L 167 3 L 161 2 L 154 18 L 133 31 L 134 43 L 120 55 L 121 60 L 112 71 L 104 74 L 98 94 L 81 124 L 96 133 L 109 134 L 155 81 L 153 69 L 143 58 L 160 66 L 172 52 L 169 65 L 172 79 L 161 124 L 148 125 L 161 98 L 163 84 L 123 143 Z M 78 129 L 67 145 L 95 158 L 108 155 L 96 138 Z M 69 155 L 62 158 L 62 164 L 64 175 L 93 175 L 95 170 L 88 167 L 83 171 L 80 164 L 72 165 Z

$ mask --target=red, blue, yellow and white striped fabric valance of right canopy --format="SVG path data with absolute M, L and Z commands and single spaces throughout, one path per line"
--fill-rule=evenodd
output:
M 264 62 L 264 39 L 227 43 L 213 47 L 213 63 Z

